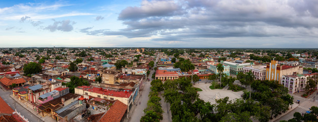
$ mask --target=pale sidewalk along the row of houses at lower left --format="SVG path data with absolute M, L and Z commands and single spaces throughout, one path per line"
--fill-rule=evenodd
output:
M 9 95 L 12 99 L 14 99 L 17 103 L 19 103 L 21 106 L 23 106 L 26 110 L 30 111 L 31 113 L 33 113 L 35 116 L 37 116 L 38 118 L 40 118 L 43 121 L 46 122 L 50 122 L 50 121 L 55 121 L 51 116 L 42 116 L 40 114 L 38 114 L 36 111 L 34 111 L 33 109 L 31 109 L 30 107 L 32 106 L 31 104 L 29 104 L 28 102 L 24 102 L 22 103 L 21 101 L 19 101 L 16 97 L 14 97 L 13 95 Z M 29 107 L 27 107 L 29 106 Z

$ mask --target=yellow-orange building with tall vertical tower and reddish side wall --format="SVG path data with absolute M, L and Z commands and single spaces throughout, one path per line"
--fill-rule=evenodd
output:
M 283 75 L 303 74 L 302 66 L 279 65 L 277 60 L 272 60 L 266 66 L 266 80 L 281 81 Z

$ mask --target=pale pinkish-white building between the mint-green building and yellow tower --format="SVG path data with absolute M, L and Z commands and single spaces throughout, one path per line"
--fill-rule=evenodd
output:
M 252 72 L 255 76 L 255 80 L 265 80 L 266 79 L 266 66 L 265 65 L 257 65 L 250 67 L 243 67 L 243 72 Z

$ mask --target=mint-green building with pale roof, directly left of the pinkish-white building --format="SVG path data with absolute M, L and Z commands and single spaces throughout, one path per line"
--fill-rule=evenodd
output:
M 230 66 L 230 74 L 237 75 L 239 72 L 243 72 L 243 67 L 251 66 L 251 63 L 232 63 L 232 62 L 221 62 L 223 65 Z

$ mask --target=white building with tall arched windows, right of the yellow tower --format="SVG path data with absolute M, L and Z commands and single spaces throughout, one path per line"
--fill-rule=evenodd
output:
M 280 83 L 288 87 L 289 93 L 297 93 L 305 90 L 307 81 L 312 78 L 317 73 L 312 74 L 293 74 L 293 75 L 283 75 Z

